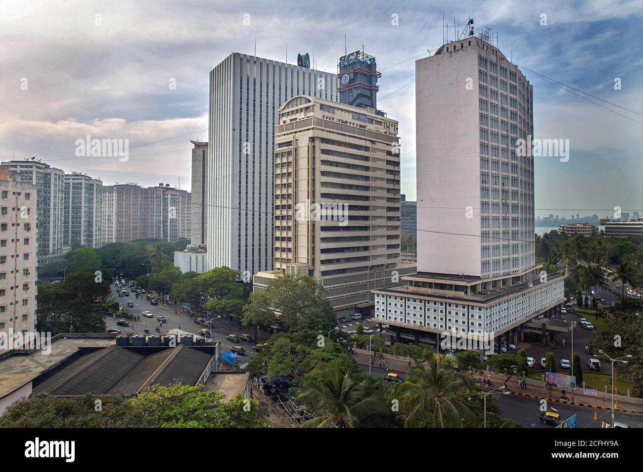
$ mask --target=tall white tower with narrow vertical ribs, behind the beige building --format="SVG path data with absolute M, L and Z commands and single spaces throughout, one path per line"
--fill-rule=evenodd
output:
M 337 77 L 241 53 L 210 72 L 210 268 L 251 274 L 273 268 L 274 133 L 279 107 L 298 95 L 336 102 Z

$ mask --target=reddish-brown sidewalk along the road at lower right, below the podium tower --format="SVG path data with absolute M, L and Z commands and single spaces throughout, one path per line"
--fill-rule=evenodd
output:
M 355 360 L 359 365 L 368 365 L 368 354 L 362 354 L 358 352 L 355 356 Z M 395 372 L 396 374 L 410 374 L 412 367 L 408 367 L 408 360 L 404 361 L 402 359 L 384 359 L 385 362 L 388 362 L 388 370 L 390 372 Z M 374 363 L 371 364 L 374 368 L 379 368 L 379 359 L 375 359 Z M 474 374 L 473 379 L 479 381 L 480 379 L 486 378 L 487 374 L 480 376 Z M 498 388 L 498 386 L 504 385 L 505 376 L 495 374 L 491 372 L 491 380 L 494 383 L 493 388 Z M 588 408 L 595 408 L 600 410 L 611 410 L 611 395 L 605 395 L 603 399 L 602 392 L 599 392 L 598 397 L 592 397 L 589 395 L 577 394 L 574 395 L 574 401 L 572 402 L 572 395 L 570 392 L 567 393 L 568 401 L 560 399 L 559 391 L 552 391 L 552 398 L 548 398 L 548 391 L 543 390 L 543 384 L 539 381 L 527 379 L 527 388 L 520 389 L 518 388 L 518 377 L 513 376 L 509 379 L 507 383 L 507 389 L 514 395 L 523 395 L 526 397 L 536 398 L 536 399 L 548 399 L 548 401 L 554 401 L 556 403 L 567 403 L 574 404 L 577 406 L 587 406 Z M 643 413 L 643 404 L 629 402 L 627 397 L 622 397 L 619 395 L 617 399 L 618 407 L 616 411 L 626 412 L 626 413 Z

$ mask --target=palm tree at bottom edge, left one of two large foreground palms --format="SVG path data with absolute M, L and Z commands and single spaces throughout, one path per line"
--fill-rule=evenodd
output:
M 316 385 L 303 390 L 298 401 L 312 408 L 315 417 L 302 428 L 354 428 L 356 422 L 377 413 L 387 413 L 386 405 L 375 395 L 364 398 L 366 383 L 354 383 L 349 372 L 338 366 L 321 373 Z

